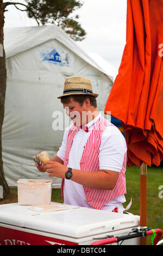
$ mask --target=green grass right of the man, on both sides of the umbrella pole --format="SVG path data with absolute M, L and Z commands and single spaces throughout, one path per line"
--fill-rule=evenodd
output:
M 129 167 L 126 172 L 127 181 L 127 206 L 130 198 L 133 199 L 133 204 L 129 212 L 134 215 L 140 214 L 140 168 Z M 162 185 L 163 196 L 163 167 L 151 167 L 147 169 L 147 225 L 149 228 L 154 228 L 156 223 L 163 217 L 163 198 L 159 198 L 159 186 Z M 160 222 L 160 227 L 163 229 L 163 220 Z M 158 227 L 159 228 L 159 227 Z

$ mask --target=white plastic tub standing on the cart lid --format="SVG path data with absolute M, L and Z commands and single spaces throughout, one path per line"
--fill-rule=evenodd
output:
M 19 205 L 47 205 L 51 203 L 52 180 L 20 179 L 17 181 Z

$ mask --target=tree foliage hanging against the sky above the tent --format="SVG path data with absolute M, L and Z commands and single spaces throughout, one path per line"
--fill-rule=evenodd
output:
M 37 23 L 55 24 L 70 34 L 73 40 L 81 41 L 86 32 L 81 27 L 78 15 L 71 16 L 74 11 L 82 7 L 83 3 L 76 0 L 26 0 L 29 18 L 35 18 Z

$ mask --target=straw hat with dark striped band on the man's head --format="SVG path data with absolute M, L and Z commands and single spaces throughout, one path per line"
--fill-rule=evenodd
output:
M 82 76 L 69 77 L 65 80 L 64 94 L 59 96 L 58 99 L 68 95 L 80 94 L 92 95 L 94 97 L 98 96 L 98 94 L 93 93 L 92 84 L 89 79 Z

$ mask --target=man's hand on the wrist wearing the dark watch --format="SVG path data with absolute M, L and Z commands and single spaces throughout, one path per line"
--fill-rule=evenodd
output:
M 57 161 L 50 160 L 43 164 L 43 170 L 44 172 L 48 172 L 49 176 L 64 179 L 67 167 Z

